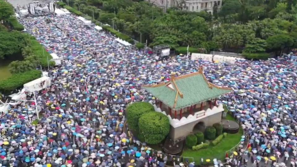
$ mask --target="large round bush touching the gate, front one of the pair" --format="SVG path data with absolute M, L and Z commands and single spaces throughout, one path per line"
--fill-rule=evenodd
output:
M 166 115 L 158 112 L 144 113 L 138 122 L 139 132 L 144 135 L 145 142 L 158 144 L 166 138 L 170 130 L 170 122 Z

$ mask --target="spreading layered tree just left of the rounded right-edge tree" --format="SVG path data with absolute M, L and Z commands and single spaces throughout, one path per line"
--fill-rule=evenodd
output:
M 243 52 L 248 52 L 248 53 L 265 52 L 266 47 L 267 47 L 267 44 L 265 40 L 262 40 L 260 38 L 254 38 L 247 45 L 245 45 Z

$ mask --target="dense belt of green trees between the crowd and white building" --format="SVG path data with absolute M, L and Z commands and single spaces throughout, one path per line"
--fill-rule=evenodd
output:
M 283 41 L 283 37 L 297 36 L 297 5 L 292 0 L 226 0 L 221 9 L 215 4 L 213 15 L 205 11 L 184 11 L 183 5 L 170 8 L 164 14 L 161 8 L 145 1 L 63 1 L 75 9 L 80 5 L 80 11 L 89 16 L 93 16 L 94 11 L 95 19 L 104 24 L 112 25 L 113 20 L 116 30 L 138 41 L 141 32 L 142 41 L 148 40 L 149 46 L 190 45 L 204 48 L 206 52 L 220 48 L 244 51 L 244 55 L 255 59 L 266 58 L 265 52 L 280 54 L 297 46 L 297 40 Z M 269 36 L 275 37 L 268 39 Z M 280 42 L 270 45 L 269 41 L 275 39 Z M 182 51 L 185 53 L 185 49 Z

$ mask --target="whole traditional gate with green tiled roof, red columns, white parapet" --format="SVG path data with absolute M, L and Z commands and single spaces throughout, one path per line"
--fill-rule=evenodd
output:
M 143 88 L 156 98 L 160 108 L 157 110 L 165 111 L 170 118 L 169 136 L 174 141 L 192 133 L 197 124 L 202 124 L 200 122 L 204 126 L 221 122 L 224 109 L 222 104 L 217 104 L 217 97 L 232 91 L 209 83 L 202 66 L 198 72 L 179 77 L 171 75 L 168 82 Z

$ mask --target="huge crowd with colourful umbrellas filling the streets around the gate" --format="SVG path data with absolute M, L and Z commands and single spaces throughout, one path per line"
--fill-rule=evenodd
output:
M 158 62 L 72 14 L 26 17 L 20 23 L 63 60 L 48 70 L 52 84 L 36 92 L 37 104 L 23 103 L 1 115 L 2 166 L 165 166 L 167 154 L 154 152 L 126 131 L 125 108 L 154 101 L 143 84 L 168 81 L 172 73 L 189 74 L 199 66 L 209 82 L 234 89 L 219 103 L 228 106 L 249 139 L 247 149 L 228 155 L 225 165 L 295 166 L 297 74 L 289 57 L 234 65 L 190 60 L 187 67 L 185 57 Z

